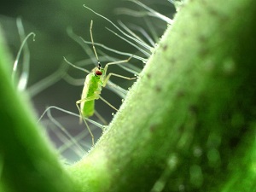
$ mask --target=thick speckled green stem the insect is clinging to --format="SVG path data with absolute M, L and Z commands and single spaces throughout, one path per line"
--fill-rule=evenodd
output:
M 70 168 L 77 190 L 255 189 L 255 13 L 253 0 L 185 3 L 108 131 Z

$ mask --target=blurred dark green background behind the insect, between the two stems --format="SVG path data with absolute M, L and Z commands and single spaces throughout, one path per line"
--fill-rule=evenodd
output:
M 174 7 L 167 0 L 144 0 L 141 1 L 151 9 L 159 11 L 161 14 L 172 18 L 175 11 Z M 20 48 L 20 36 L 16 26 L 16 19 L 21 18 L 26 34 L 29 32 L 36 33 L 36 40 L 32 42 L 30 38 L 27 42 L 30 52 L 30 73 L 28 79 L 27 90 L 33 85 L 37 84 L 40 80 L 55 73 L 61 65 L 67 65 L 63 62 L 63 56 L 67 56 L 69 61 L 81 61 L 90 58 L 89 55 L 84 53 L 84 50 L 78 43 L 67 35 L 67 28 L 71 27 L 73 32 L 78 36 L 83 37 L 85 40 L 90 41 L 90 20 L 94 20 L 93 35 L 97 43 L 105 44 L 113 49 L 129 52 L 131 54 L 138 54 L 137 49 L 133 48 L 130 44 L 127 44 L 124 40 L 108 32 L 105 26 L 108 26 L 113 31 L 118 32 L 108 21 L 103 20 L 99 16 L 85 9 L 83 4 L 108 17 L 117 23 L 117 20 L 122 20 L 125 25 L 135 24 L 143 27 L 148 34 L 154 38 L 154 42 L 162 35 L 166 29 L 166 22 L 160 19 L 146 18 L 146 17 L 133 17 L 130 15 L 118 15 L 117 9 L 129 8 L 136 10 L 137 12 L 145 11 L 145 9 L 139 7 L 136 3 L 129 1 L 107 1 L 107 0 L 76 0 L 76 1 L 6 1 L 1 3 L 0 6 L 0 24 L 3 28 L 3 32 L 9 49 L 12 52 L 13 57 L 17 55 Z M 152 26 L 148 26 L 148 22 Z M 112 54 L 114 57 L 120 60 L 127 59 L 127 56 Z M 93 57 L 94 55 L 92 55 Z M 145 56 L 143 56 L 145 57 Z M 146 57 L 145 57 L 146 58 Z M 137 67 L 143 68 L 143 62 L 132 59 L 131 61 Z M 92 65 L 86 66 L 88 70 L 94 67 Z M 12 66 L 13 63 L 10 63 Z M 22 65 L 22 57 L 20 58 L 19 65 Z M 104 66 L 105 63 L 102 62 Z M 20 69 L 20 68 L 19 68 Z M 109 67 L 109 72 L 119 73 L 128 77 L 133 77 L 133 74 L 126 72 L 119 67 Z M 68 74 L 74 78 L 83 79 L 86 74 L 80 72 L 77 69 L 69 67 Z M 124 79 L 112 79 L 114 83 L 127 89 L 131 86 L 131 82 L 127 82 Z M 40 84 L 39 84 L 40 85 Z M 75 106 L 75 102 L 79 100 L 83 86 L 74 86 L 67 84 L 66 81 L 60 79 L 57 83 L 50 84 L 49 87 L 40 91 L 35 96 L 32 96 L 32 104 L 40 116 L 47 106 L 57 106 L 59 108 L 65 108 L 69 111 L 78 113 Z M 121 104 L 121 98 L 113 93 L 111 90 L 104 89 L 102 96 L 116 108 L 119 108 Z M 96 110 L 108 120 L 112 119 L 114 111 L 109 108 L 105 103 L 96 101 Z M 68 131 L 72 132 L 73 137 L 81 135 L 81 131 L 84 130 L 84 125 L 79 125 L 79 119 L 65 113 L 52 112 L 52 115 L 58 120 L 61 125 Z M 94 119 L 94 118 L 92 118 Z M 96 119 L 97 122 L 99 122 Z M 53 126 L 47 117 L 42 120 L 42 123 L 49 129 L 49 126 Z M 98 129 L 99 130 L 99 129 Z M 95 133 L 95 137 L 99 137 L 101 131 Z M 50 133 L 50 137 L 56 137 L 55 134 Z M 82 139 L 85 143 L 90 145 L 90 137 Z M 63 141 L 56 143 L 57 146 L 63 145 Z M 84 147 L 86 148 L 86 146 Z M 86 150 L 86 149 L 85 149 Z

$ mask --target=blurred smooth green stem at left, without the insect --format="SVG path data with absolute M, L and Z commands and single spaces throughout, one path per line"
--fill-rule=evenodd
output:
M 0 33 L 0 191 L 73 191 L 26 95 L 11 82 L 12 63 Z

